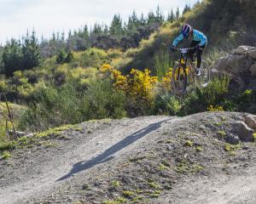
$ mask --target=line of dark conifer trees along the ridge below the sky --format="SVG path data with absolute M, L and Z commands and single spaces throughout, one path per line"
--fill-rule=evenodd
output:
M 183 13 L 190 10 L 188 5 Z M 0 47 L 0 73 L 12 77 L 18 70 L 29 70 L 38 66 L 41 59 L 57 54 L 57 63 L 65 63 L 72 59 L 71 51 L 84 51 L 87 48 L 119 48 L 123 51 L 137 48 L 139 42 L 147 39 L 151 33 L 157 31 L 166 22 L 172 22 L 182 16 L 179 8 L 165 16 L 158 6 L 147 16 L 140 16 L 134 11 L 127 22 L 120 14 L 114 14 L 110 26 L 96 23 L 91 29 L 87 25 L 69 31 L 67 37 L 64 32 L 53 33 L 49 39 L 41 38 L 39 42 L 35 31 L 27 32 L 26 37 L 11 39 Z

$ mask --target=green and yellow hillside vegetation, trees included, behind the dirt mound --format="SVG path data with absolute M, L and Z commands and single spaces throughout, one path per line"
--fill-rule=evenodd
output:
M 166 52 L 185 21 L 207 33 L 212 45 L 234 40 L 251 43 L 254 36 L 250 31 L 255 31 L 255 3 L 251 3 L 252 7 L 243 1 L 205 0 L 195 8 L 186 7 L 183 14 L 171 12 L 167 20 L 158 8 L 146 19 L 133 13 L 125 25 L 115 15 L 109 28 L 95 26 L 89 32 L 85 26 L 70 33 L 67 40 L 57 34 L 49 42 L 39 43 L 34 32 L 27 34 L 22 41 L 13 39 L 1 49 L 0 92 L 27 105 L 16 124 L 28 132 L 108 117 L 256 113 L 250 106 L 256 103 L 256 94 L 252 90 L 231 93 L 227 77 L 213 79 L 207 88 L 194 88 L 185 98 L 172 94 L 174 58 Z M 241 22 L 251 26 L 238 30 Z M 206 58 L 214 61 L 219 56 L 217 46 L 208 50 Z

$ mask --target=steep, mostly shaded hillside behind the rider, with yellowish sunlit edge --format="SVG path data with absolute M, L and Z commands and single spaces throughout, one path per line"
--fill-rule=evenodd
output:
M 123 71 L 128 73 L 132 68 L 154 70 L 154 58 L 166 52 L 184 22 L 207 35 L 206 53 L 219 47 L 230 50 L 241 44 L 255 46 L 255 9 L 254 0 L 203 0 L 191 11 L 183 14 L 182 18 L 160 27 L 148 40 L 141 42 L 133 59 L 123 67 Z M 181 48 L 188 46 L 189 42 L 179 45 Z M 171 61 L 176 60 L 177 56 L 171 54 Z

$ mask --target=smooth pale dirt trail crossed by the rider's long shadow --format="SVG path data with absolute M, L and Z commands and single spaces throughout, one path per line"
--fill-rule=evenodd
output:
M 160 123 L 167 119 L 172 120 L 165 116 L 152 116 L 111 124 L 107 122 L 93 129 L 90 136 L 73 135 L 79 137 L 59 150 L 42 152 L 43 157 L 28 156 L 26 167 L 18 167 L 16 171 L 7 172 L 8 175 L 5 173 L 0 178 L 0 203 L 21 203 L 30 200 L 31 196 L 55 189 L 66 182 L 67 178 L 73 178 L 79 173 L 94 173 L 93 167 L 119 157 L 130 149 L 129 145 L 138 143 L 139 139 L 156 131 Z M 9 179 L 9 184 L 4 184 L 6 179 Z

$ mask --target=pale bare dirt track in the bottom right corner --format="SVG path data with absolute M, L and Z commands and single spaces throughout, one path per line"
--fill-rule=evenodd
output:
M 172 196 L 162 195 L 154 203 L 255 204 L 256 169 L 249 167 L 240 171 L 239 175 L 219 174 L 210 179 L 189 179 L 173 190 Z

